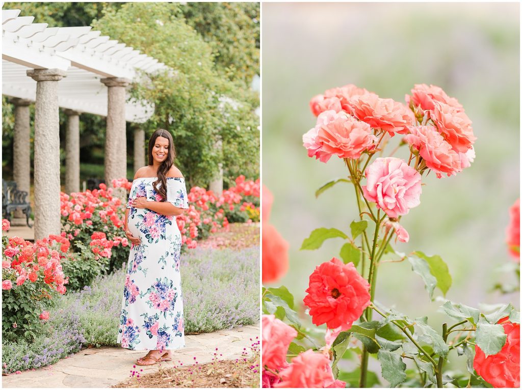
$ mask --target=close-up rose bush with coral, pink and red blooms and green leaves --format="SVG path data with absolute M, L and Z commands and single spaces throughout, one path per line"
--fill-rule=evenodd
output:
M 349 232 L 321 227 L 304 239 L 302 250 L 317 249 L 327 239 L 343 239 L 339 259 L 311 270 L 303 300 L 308 310 L 296 307 L 285 286 L 263 288 L 268 328 L 277 320 L 288 326 L 284 335 L 271 334 L 263 340 L 263 354 L 276 350 L 279 358 L 277 367 L 263 359 L 263 387 L 345 387 L 345 382 L 350 387 L 372 387 L 379 379 L 369 370 L 370 358 L 380 363 L 390 387 L 520 386 L 519 311 L 511 304 L 484 311 L 445 300 L 452 277 L 442 258 L 421 251 L 400 253 L 390 245 L 394 236 L 396 242 L 410 240 L 399 221 L 420 204 L 423 178 L 432 170 L 439 179 L 456 176 L 475 157 L 471 120 L 456 99 L 439 87 L 417 84 L 406 95 L 406 103 L 382 99 L 352 84 L 312 98 L 316 125 L 303 135 L 303 146 L 309 157 L 324 163 L 339 157 L 349 174 L 327 182 L 316 196 L 338 182 L 350 182 L 359 217 Z M 407 145 L 407 159 L 382 156 L 385 145 L 397 135 L 402 139 L 392 155 Z M 377 153 L 382 157 L 375 157 Z M 268 214 L 270 204 L 263 203 Z M 518 254 L 518 202 L 510 214 L 507 244 L 512 254 Z M 288 254 L 284 247 L 278 253 L 276 240 L 267 237 L 263 282 L 273 283 L 282 276 L 279 269 L 288 262 Z M 441 291 L 441 311 L 448 319 L 439 330 L 421 313 L 413 319 L 376 302 L 377 270 L 383 259 L 407 260 L 432 301 L 435 288 Z M 292 340 L 290 328 L 297 333 Z M 286 359 L 281 361 L 285 348 Z M 465 357 L 467 372 L 448 369 L 450 356 L 452 361 Z M 350 364 L 341 369 L 341 359 L 354 360 L 351 366 L 357 369 L 346 372 Z

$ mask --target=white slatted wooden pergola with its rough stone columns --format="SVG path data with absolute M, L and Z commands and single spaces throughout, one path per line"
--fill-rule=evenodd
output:
M 79 114 L 105 116 L 105 182 L 126 177 L 126 121 L 144 123 L 154 106 L 128 101 L 143 74 L 169 71 L 155 58 L 92 31 L 48 27 L 20 10 L 2 10 L 2 94 L 15 104 L 14 174 L 29 192 L 29 108 L 34 102 L 34 238 L 60 234 L 58 109 L 68 115 L 66 192 L 79 191 Z M 145 81 L 145 80 L 143 80 Z M 134 133 L 135 164 L 145 162 L 145 134 Z

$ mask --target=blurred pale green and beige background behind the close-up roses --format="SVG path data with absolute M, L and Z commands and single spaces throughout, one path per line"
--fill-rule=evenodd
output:
M 303 239 L 317 227 L 349 232 L 358 217 L 351 184 L 315 199 L 317 188 L 348 172 L 335 156 L 326 164 L 307 157 L 311 97 L 353 83 L 404 102 L 413 84 L 426 83 L 464 106 L 477 157 L 456 177 L 423 178 L 421 205 L 401 219 L 410 242 L 394 248 L 441 255 L 453 276 L 450 300 L 519 307 L 518 293 L 492 291 L 516 283 L 499 268 L 513 263 L 505 228 L 519 197 L 519 4 L 264 3 L 262 20 L 262 180 L 274 194 L 270 223 L 290 243 L 290 270 L 275 285 L 302 304 L 314 267 L 339 257 L 342 245 L 331 239 L 300 251 Z M 375 296 L 412 318 L 428 315 L 438 331 L 446 321 L 408 261 L 379 267 Z

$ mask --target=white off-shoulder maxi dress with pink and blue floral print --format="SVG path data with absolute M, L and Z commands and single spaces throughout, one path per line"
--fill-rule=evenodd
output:
M 133 350 L 177 349 L 185 346 L 180 278 L 181 234 L 175 216 L 136 209 L 131 201 L 161 200 L 152 187 L 156 177 L 140 177 L 127 202 L 127 227 L 140 245 L 131 247 L 123 289 L 117 343 Z M 161 186 L 161 182 L 158 186 Z M 185 180 L 167 178 L 167 202 L 188 208 Z

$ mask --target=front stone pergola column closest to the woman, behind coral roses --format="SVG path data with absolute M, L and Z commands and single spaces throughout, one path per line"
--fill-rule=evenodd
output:
M 112 187 L 112 179 L 127 177 L 127 137 L 125 132 L 125 87 L 131 80 L 111 77 L 100 80 L 108 87 L 107 129 L 105 132 L 105 184 Z M 125 197 L 123 188 L 113 192 Z

